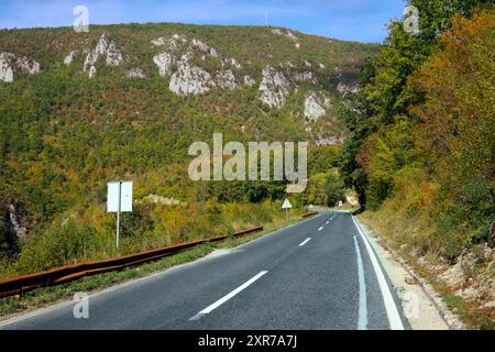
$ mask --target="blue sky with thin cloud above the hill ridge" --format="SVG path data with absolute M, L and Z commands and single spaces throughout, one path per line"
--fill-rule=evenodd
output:
M 90 24 L 182 22 L 287 26 L 304 33 L 382 42 L 404 0 L 0 0 L 0 28 L 67 26 L 76 6 Z

